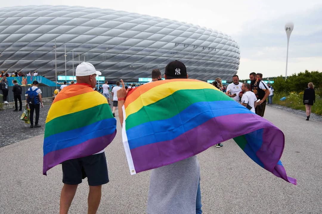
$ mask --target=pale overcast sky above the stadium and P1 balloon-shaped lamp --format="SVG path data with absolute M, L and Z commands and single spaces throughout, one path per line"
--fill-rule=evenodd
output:
M 222 31 L 240 46 L 238 75 L 285 76 L 287 37 L 285 23 L 294 30 L 289 41 L 288 74 L 322 71 L 321 0 L 11 0 L 1 7 L 19 5 L 78 5 L 109 8 L 184 21 Z

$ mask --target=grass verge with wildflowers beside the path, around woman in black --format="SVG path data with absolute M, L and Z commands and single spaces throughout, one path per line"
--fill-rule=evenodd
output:
M 280 100 L 280 98 L 286 97 L 285 100 Z M 293 109 L 300 109 L 305 111 L 305 105 L 303 105 L 303 92 L 275 92 L 273 97 L 273 103 L 286 106 Z M 315 103 L 311 109 L 312 113 L 317 115 L 322 115 L 322 98 L 317 94 L 315 96 Z

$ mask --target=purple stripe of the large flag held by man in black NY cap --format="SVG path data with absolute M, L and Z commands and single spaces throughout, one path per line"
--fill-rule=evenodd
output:
M 236 121 L 236 123 L 231 123 L 231 121 Z M 240 128 L 238 121 L 243 121 L 244 126 L 247 127 L 247 132 Z M 264 128 L 264 130 L 270 129 L 270 134 L 281 132 L 273 124 L 255 114 L 214 117 L 175 139 L 132 149 L 133 164 L 137 173 L 165 166 L 196 155 L 217 143 L 261 128 Z M 282 140 L 280 139 L 275 143 L 281 144 Z M 276 164 L 278 160 L 279 158 L 274 163 Z

